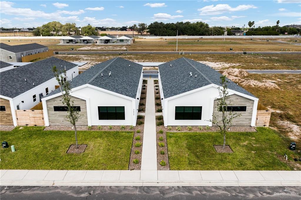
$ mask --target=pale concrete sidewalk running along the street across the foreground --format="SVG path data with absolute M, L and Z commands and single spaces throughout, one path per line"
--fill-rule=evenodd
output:
M 2 186 L 301 186 L 301 171 L 0 170 Z

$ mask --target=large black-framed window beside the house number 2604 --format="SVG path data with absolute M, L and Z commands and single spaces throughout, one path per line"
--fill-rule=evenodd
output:
M 124 106 L 98 106 L 99 120 L 125 120 Z

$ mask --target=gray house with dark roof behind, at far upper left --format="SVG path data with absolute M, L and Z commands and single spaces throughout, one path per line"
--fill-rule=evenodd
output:
M 7 45 L 0 43 L 0 60 L 4 62 L 22 62 L 23 56 L 48 51 L 48 47 L 37 43 L 25 45 Z

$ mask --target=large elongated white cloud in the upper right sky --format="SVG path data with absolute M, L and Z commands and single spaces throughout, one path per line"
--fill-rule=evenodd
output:
M 254 5 L 239 5 L 237 7 L 232 8 L 228 4 L 218 4 L 216 6 L 214 5 L 205 6 L 203 8 L 197 9 L 197 11 L 200 11 L 200 15 L 217 15 L 225 12 L 244 11 L 250 8 L 257 8 L 257 7 Z

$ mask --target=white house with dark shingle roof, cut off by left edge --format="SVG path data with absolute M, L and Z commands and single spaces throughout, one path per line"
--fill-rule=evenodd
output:
M 0 72 L 0 125 L 17 125 L 14 110 L 28 110 L 58 85 L 53 66 L 63 70 L 67 79 L 76 77 L 78 65 L 55 57 Z

